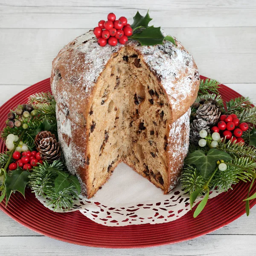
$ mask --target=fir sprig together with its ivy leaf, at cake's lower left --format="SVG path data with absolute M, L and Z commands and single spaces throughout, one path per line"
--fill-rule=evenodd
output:
M 68 182 L 63 182 L 59 176 L 68 178 Z M 60 160 L 52 164 L 44 162 L 43 165 L 34 167 L 29 185 L 32 192 L 36 196 L 44 196 L 48 206 L 52 206 L 54 210 L 70 209 L 81 192 L 77 178 L 73 177 L 64 171 L 64 165 Z

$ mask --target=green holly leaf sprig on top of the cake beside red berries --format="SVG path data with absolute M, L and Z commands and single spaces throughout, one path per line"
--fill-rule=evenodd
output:
M 163 40 L 166 40 L 176 46 L 175 40 L 171 36 L 164 37 L 160 27 L 148 26 L 148 23 L 152 20 L 148 12 L 145 17 L 137 12 L 133 19 L 134 22 L 131 24 L 133 35 L 130 38 L 139 41 L 141 45 L 163 44 Z

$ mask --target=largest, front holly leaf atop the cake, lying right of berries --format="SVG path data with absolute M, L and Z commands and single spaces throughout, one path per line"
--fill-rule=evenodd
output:
M 143 46 L 163 44 L 164 36 L 160 30 L 160 27 L 155 28 L 154 26 L 150 26 L 144 29 L 142 32 L 132 35 L 131 38 L 139 41 Z

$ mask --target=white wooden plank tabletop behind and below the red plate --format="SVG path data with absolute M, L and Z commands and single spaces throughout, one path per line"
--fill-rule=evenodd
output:
M 0 0 L 0 105 L 50 76 L 52 59 L 108 12 L 134 16 L 150 9 L 192 53 L 200 73 L 256 104 L 256 0 Z M 232 214 L 232 213 L 230 213 Z M 0 255 L 256 255 L 256 208 L 201 238 L 145 249 L 101 249 L 56 241 L 0 212 Z

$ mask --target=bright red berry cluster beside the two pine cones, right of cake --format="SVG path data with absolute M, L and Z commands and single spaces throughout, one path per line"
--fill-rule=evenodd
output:
M 241 136 L 248 128 L 246 122 L 240 124 L 236 114 L 231 114 L 229 116 L 221 115 L 217 126 L 212 127 L 212 131 L 221 133 L 221 137 L 231 140 L 232 142 L 244 143 Z

